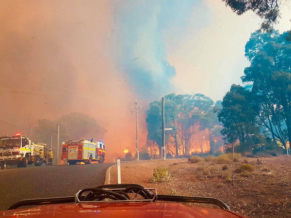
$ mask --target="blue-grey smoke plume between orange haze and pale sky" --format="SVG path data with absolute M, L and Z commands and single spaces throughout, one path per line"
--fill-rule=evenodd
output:
M 175 91 L 171 80 L 176 70 L 167 61 L 164 41 L 183 34 L 197 2 L 127 0 L 115 7 L 118 69 L 143 98 Z

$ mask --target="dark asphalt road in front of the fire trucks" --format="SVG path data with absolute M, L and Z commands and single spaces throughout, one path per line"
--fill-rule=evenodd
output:
M 105 172 L 112 165 L 43 165 L 0 170 L 0 210 L 24 199 L 73 196 L 81 189 L 103 185 Z

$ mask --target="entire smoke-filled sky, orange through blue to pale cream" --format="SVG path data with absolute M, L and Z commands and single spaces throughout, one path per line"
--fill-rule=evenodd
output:
M 286 7 L 280 31 L 289 16 Z M 82 112 L 108 130 L 100 140 L 112 157 L 133 152 L 131 102 L 172 92 L 222 99 L 240 83 L 259 23 L 221 0 L 1 0 L 0 120 L 16 126 L 0 123 L 0 134 Z

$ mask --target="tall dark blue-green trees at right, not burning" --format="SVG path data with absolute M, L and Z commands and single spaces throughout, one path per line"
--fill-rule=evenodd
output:
M 250 66 L 244 69 L 245 87 L 232 85 L 219 120 L 226 140 L 244 142 L 248 135 L 272 136 L 286 146 L 291 140 L 291 42 L 289 32 L 255 31 L 245 45 Z

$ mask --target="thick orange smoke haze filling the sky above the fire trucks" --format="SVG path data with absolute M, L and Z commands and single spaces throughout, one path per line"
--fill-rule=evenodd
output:
M 97 119 L 108 131 L 107 162 L 135 153 L 135 99 L 116 69 L 113 5 L 101 1 L 2 0 L 0 2 L 0 134 L 28 122 L 70 112 Z M 31 90 L 33 92 L 28 92 Z M 62 94 L 60 94 L 62 93 Z M 140 116 L 139 144 L 146 142 Z

